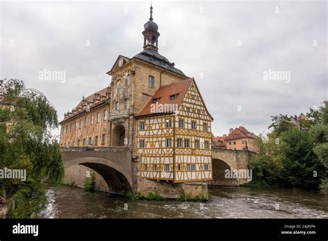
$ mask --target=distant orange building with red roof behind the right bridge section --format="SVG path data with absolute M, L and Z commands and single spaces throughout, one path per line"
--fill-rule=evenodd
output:
M 245 127 L 239 126 L 230 128 L 229 134 L 212 138 L 213 148 L 223 148 L 228 150 L 249 150 L 258 152 L 255 145 L 255 134 L 249 132 Z

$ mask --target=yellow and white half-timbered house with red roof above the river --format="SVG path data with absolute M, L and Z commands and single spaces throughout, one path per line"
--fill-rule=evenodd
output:
M 141 177 L 174 182 L 212 179 L 213 118 L 194 78 L 158 89 L 136 118 Z

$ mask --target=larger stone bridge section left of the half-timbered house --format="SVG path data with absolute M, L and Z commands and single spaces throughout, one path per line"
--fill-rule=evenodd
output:
M 72 166 L 82 165 L 98 173 L 106 181 L 110 193 L 121 194 L 134 189 L 133 162 L 129 147 L 61 148 L 61 152 L 65 172 Z M 81 174 L 76 170 L 71 175 L 78 177 Z

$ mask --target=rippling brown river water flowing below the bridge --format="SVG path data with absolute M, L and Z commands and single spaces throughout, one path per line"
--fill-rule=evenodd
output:
M 318 190 L 211 187 L 210 193 L 209 202 L 147 201 L 61 186 L 48 190 L 40 217 L 328 218 L 328 195 Z

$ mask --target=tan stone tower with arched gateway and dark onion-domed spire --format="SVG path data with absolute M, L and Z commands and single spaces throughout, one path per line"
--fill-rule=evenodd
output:
M 134 115 L 164 84 L 188 78 L 173 62 L 158 53 L 158 25 L 153 8 L 144 25 L 143 51 L 134 57 L 119 55 L 107 74 L 111 75 L 110 145 L 129 145 L 136 150 Z

